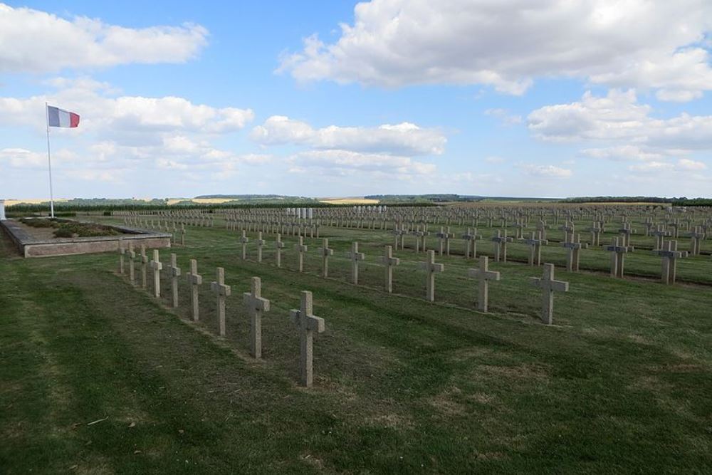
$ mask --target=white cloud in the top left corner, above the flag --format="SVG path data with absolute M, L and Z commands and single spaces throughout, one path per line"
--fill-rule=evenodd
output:
M 204 27 L 194 24 L 125 28 L 0 4 L 0 73 L 183 63 L 197 56 L 207 36 Z

